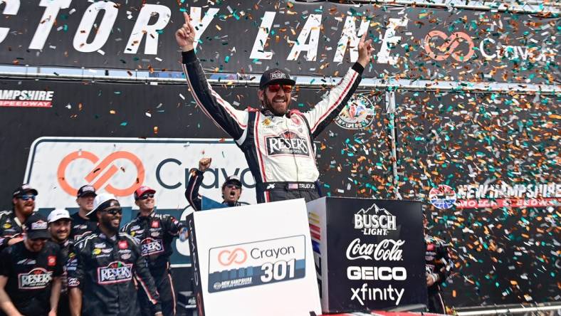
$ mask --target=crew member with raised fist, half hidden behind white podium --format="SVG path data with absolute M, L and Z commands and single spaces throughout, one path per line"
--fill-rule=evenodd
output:
M 195 211 L 201 211 L 201 197 L 199 196 L 199 186 L 203 183 L 203 174 L 209 169 L 212 158 L 203 158 L 199 160 L 199 169 L 195 169 L 187 184 L 185 190 L 185 197 L 189 204 Z M 241 181 L 237 176 L 230 176 L 226 178 L 222 184 L 222 204 L 227 206 L 241 206 L 248 205 L 246 202 L 239 201 L 241 196 Z

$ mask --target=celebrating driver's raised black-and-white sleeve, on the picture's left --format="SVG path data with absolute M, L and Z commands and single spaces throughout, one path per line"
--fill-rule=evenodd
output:
M 239 139 L 247 127 L 248 112 L 237 110 L 212 89 L 206 81 L 206 75 L 194 50 L 183 52 L 182 58 L 183 72 L 196 105 L 201 107 L 216 126 L 232 138 Z

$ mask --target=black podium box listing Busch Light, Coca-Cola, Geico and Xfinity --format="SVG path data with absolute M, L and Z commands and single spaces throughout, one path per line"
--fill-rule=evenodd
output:
M 426 305 L 421 202 L 323 197 L 306 206 L 323 312 Z

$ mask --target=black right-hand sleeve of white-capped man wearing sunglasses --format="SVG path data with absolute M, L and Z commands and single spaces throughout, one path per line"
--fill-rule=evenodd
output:
M 154 283 L 154 278 L 152 278 L 152 274 L 150 274 L 146 259 L 142 256 L 140 248 L 138 248 L 138 245 L 135 242 L 134 238 L 132 238 L 132 236 L 129 236 L 125 233 L 120 233 L 119 236 L 121 238 L 128 239 L 132 251 L 135 252 L 135 278 L 137 279 L 140 288 L 142 288 L 142 293 L 146 295 L 148 301 L 152 304 L 152 306 L 150 307 L 152 313 L 155 314 L 157 312 L 162 312 L 162 305 L 160 305 L 159 295 Z

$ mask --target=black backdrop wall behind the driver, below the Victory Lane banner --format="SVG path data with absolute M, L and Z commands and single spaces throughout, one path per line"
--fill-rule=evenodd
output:
M 37 137 L 226 137 L 196 109 L 182 85 L 3 80 L 0 90 L 6 89 L 53 90 L 55 97 L 51 108 L 0 108 L 4 209 L 23 179 L 29 146 Z M 216 90 L 240 108 L 256 107 L 255 88 Z M 305 110 L 323 93 L 302 88 L 293 107 Z M 394 199 L 384 93 L 365 94 L 374 103 L 372 125 L 345 130 L 331 124 L 316 139 L 323 191 Z M 439 184 L 457 189 L 492 177 L 555 182 L 560 103 L 534 95 L 398 93 L 399 191 L 404 198 L 427 202 L 429 190 Z M 456 268 L 444 290 L 451 305 L 558 299 L 553 255 L 558 206 L 442 210 L 425 204 L 432 213 L 432 233 L 453 248 Z

